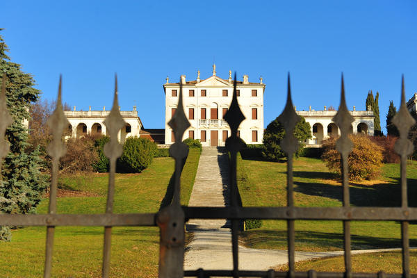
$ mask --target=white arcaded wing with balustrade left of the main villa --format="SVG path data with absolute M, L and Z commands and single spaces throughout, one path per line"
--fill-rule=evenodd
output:
M 75 106 L 74 111 L 64 111 L 65 116 L 70 122 L 69 129 L 72 133 L 70 137 L 80 138 L 87 134 L 92 136 L 95 134 L 108 135 L 103 122 L 110 112 L 106 111 L 105 107 L 103 107 L 102 111 L 91 111 L 91 106 L 89 111 L 76 111 Z M 120 111 L 120 114 L 124 122 L 126 122 L 126 126 L 117 133 L 117 140 L 123 144 L 126 138 L 133 136 L 140 137 L 140 130 L 143 129 L 143 124 L 138 117 L 136 106 L 133 106 L 133 111 Z

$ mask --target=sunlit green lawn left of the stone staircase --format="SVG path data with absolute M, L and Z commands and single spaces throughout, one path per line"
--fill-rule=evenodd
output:
M 198 160 L 199 150 L 190 150 L 181 177 L 183 204 L 188 204 Z M 154 158 L 140 174 L 116 174 L 114 212 L 158 211 L 173 172 L 172 158 Z M 104 213 L 107 183 L 108 174 L 60 178 L 60 188 L 86 196 L 58 198 L 58 213 Z M 38 213 L 47 213 L 48 202 L 41 202 Z M 57 227 L 53 277 L 100 277 L 103 231 L 103 227 Z M 13 231 L 12 242 L 0 242 L 0 276 L 42 277 L 45 236 L 45 227 L 25 227 Z M 111 277 L 157 277 L 158 256 L 157 227 L 113 228 Z

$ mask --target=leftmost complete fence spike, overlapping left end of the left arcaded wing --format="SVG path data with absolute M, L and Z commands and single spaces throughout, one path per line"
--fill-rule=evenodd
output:
M 56 100 L 56 108 L 51 117 L 47 120 L 47 125 L 49 126 L 49 131 L 52 134 L 52 140 L 47 147 L 47 152 L 52 158 L 59 159 L 64 156 L 67 152 L 65 144 L 62 142 L 61 138 L 63 136 L 64 129 L 70 125 L 67 117 L 64 115 L 63 104 L 62 104 L 62 83 L 63 76 L 59 76 L 59 85 L 58 85 L 58 98 Z

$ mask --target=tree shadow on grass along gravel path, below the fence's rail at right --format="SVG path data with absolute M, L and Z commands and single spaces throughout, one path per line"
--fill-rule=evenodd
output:
M 295 224 L 297 229 L 297 224 Z M 286 231 L 252 230 L 245 231 L 243 239 L 247 247 L 259 247 L 268 244 L 272 248 L 286 246 Z M 411 246 L 417 245 L 417 239 L 410 240 Z M 305 250 L 325 248 L 326 250 L 343 250 L 343 234 L 325 233 L 318 231 L 295 231 L 296 250 L 300 247 Z M 298 247 L 297 247 L 298 246 Z M 401 247 L 399 238 L 376 238 L 372 236 L 352 235 L 352 250 L 375 249 L 375 248 L 398 248 Z

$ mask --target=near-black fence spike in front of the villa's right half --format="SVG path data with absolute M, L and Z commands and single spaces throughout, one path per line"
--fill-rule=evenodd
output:
M 240 124 L 246 119 L 240 110 L 238 103 L 238 95 L 236 92 L 236 72 L 233 83 L 233 97 L 229 109 L 224 114 L 224 120 L 229 124 L 231 129 L 231 136 L 226 140 L 226 148 L 230 152 L 238 152 L 243 147 L 243 142 L 238 138 L 238 128 Z

